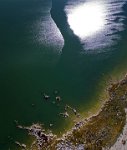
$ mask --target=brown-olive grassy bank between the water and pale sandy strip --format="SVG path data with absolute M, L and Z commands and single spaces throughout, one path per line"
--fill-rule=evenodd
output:
M 88 150 L 110 147 L 125 125 L 126 90 L 127 76 L 108 88 L 109 100 L 102 106 L 101 111 L 97 115 L 80 122 L 77 128 L 73 128 L 70 133 L 65 135 L 65 141 L 69 141 L 75 146 L 83 144 L 84 148 Z

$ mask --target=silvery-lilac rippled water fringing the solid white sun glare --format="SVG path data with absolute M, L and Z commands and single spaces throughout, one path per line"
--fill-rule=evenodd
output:
M 83 5 L 85 3 L 96 3 L 95 0 L 87 1 L 68 1 L 65 12 L 67 16 L 70 11 L 72 11 L 76 6 Z M 81 43 L 84 44 L 84 50 L 88 53 L 98 53 L 107 51 L 109 47 L 114 46 L 120 40 L 120 33 L 125 29 L 124 20 L 126 16 L 124 15 L 123 6 L 127 0 L 98 0 L 97 3 L 103 4 L 105 8 L 105 20 L 106 24 L 101 30 L 101 32 L 96 33 L 90 37 L 80 38 Z

